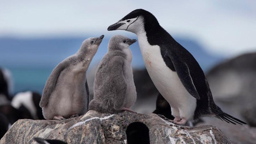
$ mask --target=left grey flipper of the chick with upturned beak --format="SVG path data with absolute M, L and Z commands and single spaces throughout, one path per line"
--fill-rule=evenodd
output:
M 42 98 L 40 100 L 39 106 L 41 108 L 43 108 L 49 100 L 49 97 L 52 93 L 52 91 L 55 88 L 55 85 L 57 83 L 57 79 L 60 76 L 60 73 L 67 68 L 67 66 L 69 65 L 69 62 L 67 59 L 63 60 L 62 62 L 60 62 L 53 70 L 51 75 L 48 77 L 45 86 L 44 86 L 44 91 L 42 94 Z

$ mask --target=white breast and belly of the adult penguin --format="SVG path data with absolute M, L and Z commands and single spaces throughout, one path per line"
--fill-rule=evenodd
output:
M 150 45 L 146 33 L 140 33 L 137 36 L 145 66 L 157 90 L 172 108 L 187 109 L 189 117 L 193 116 L 196 99 L 187 92 L 177 73 L 166 66 L 160 47 Z

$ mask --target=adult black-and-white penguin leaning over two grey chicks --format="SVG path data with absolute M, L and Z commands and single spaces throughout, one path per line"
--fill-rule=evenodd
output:
M 201 116 L 215 116 L 232 124 L 246 124 L 218 107 L 204 72 L 196 59 L 162 28 L 156 17 L 137 9 L 108 27 L 138 36 L 148 74 L 157 90 L 171 105 L 176 124 L 184 125 Z

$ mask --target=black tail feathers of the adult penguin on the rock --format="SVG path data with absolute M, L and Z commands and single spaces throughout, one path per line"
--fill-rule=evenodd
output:
M 221 112 L 220 114 L 215 114 L 215 117 L 222 120 L 222 121 L 224 120 L 227 123 L 231 123 L 231 124 L 236 124 L 236 123 L 241 124 L 241 125 L 246 124 L 245 122 L 243 122 L 243 121 L 241 121 L 241 120 L 239 120 L 239 119 L 237 119 L 233 116 L 230 116 L 225 112 Z

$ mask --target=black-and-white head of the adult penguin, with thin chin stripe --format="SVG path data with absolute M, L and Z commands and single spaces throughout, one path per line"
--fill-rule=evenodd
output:
M 108 31 L 120 29 L 138 34 L 149 27 L 155 26 L 159 26 L 159 23 L 152 13 L 143 9 L 137 9 L 127 14 L 115 24 L 110 25 Z

